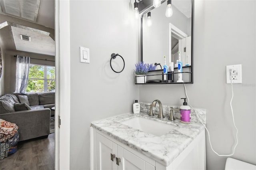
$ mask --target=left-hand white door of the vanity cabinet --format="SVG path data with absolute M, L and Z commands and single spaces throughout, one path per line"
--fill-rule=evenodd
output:
M 96 169 L 118 170 L 116 156 L 117 144 L 96 133 Z

